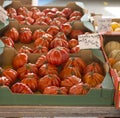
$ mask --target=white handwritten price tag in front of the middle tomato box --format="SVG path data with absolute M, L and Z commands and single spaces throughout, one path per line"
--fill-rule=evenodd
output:
M 78 35 L 80 49 L 100 49 L 100 35 L 98 33 Z

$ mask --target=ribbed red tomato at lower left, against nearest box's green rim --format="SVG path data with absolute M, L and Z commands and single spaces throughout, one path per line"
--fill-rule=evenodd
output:
M 33 94 L 32 90 L 26 84 L 20 82 L 13 84 L 11 91 L 13 93 Z

